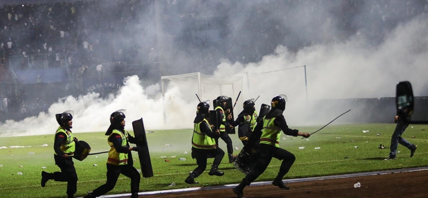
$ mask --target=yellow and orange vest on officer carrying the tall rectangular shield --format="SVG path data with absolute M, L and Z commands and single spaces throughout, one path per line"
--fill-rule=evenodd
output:
M 109 164 L 113 164 L 113 165 L 128 164 L 128 153 L 117 152 L 116 149 L 114 148 L 113 143 L 109 141 L 111 136 L 120 135 L 120 138 L 122 138 L 122 146 L 123 147 L 128 146 L 128 132 L 126 130 L 124 131 L 125 131 L 125 134 L 114 129 L 107 139 L 107 143 L 110 146 L 110 150 L 108 151 L 108 158 L 107 158 L 107 163 Z

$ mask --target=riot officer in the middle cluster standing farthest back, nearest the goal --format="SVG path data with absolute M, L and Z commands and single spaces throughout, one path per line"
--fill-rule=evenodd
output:
M 220 138 L 224 141 L 224 143 L 226 143 L 229 163 L 232 163 L 235 161 L 235 157 L 233 156 L 232 140 L 230 139 L 229 134 L 226 132 L 226 126 L 229 126 L 229 124 L 226 122 L 226 114 L 230 114 L 231 112 L 230 109 L 224 110 L 227 105 L 227 99 L 229 99 L 227 96 L 217 97 L 217 107 L 215 107 L 214 110 L 217 111 L 217 123 L 219 125 L 218 131 L 220 132 Z M 218 138 L 216 141 L 218 141 Z

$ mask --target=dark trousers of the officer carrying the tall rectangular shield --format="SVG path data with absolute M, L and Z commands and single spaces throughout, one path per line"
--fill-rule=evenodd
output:
M 114 186 L 116 186 L 117 178 L 122 174 L 126 177 L 131 178 L 131 194 L 138 193 L 140 186 L 140 173 L 138 173 L 137 169 L 135 169 L 132 165 L 112 165 L 107 163 L 107 182 L 106 184 L 101 185 L 97 189 L 95 189 L 92 193 L 93 196 L 99 197 L 107 192 L 113 190 Z

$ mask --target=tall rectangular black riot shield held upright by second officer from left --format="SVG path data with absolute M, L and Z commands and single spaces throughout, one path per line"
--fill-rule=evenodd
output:
M 133 121 L 132 128 L 134 129 L 135 139 L 137 140 L 137 147 L 142 148 L 141 151 L 138 151 L 138 158 L 140 159 L 143 177 L 153 177 L 152 161 L 150 160 L 149 146 L 147 145 L 143 118 Z

